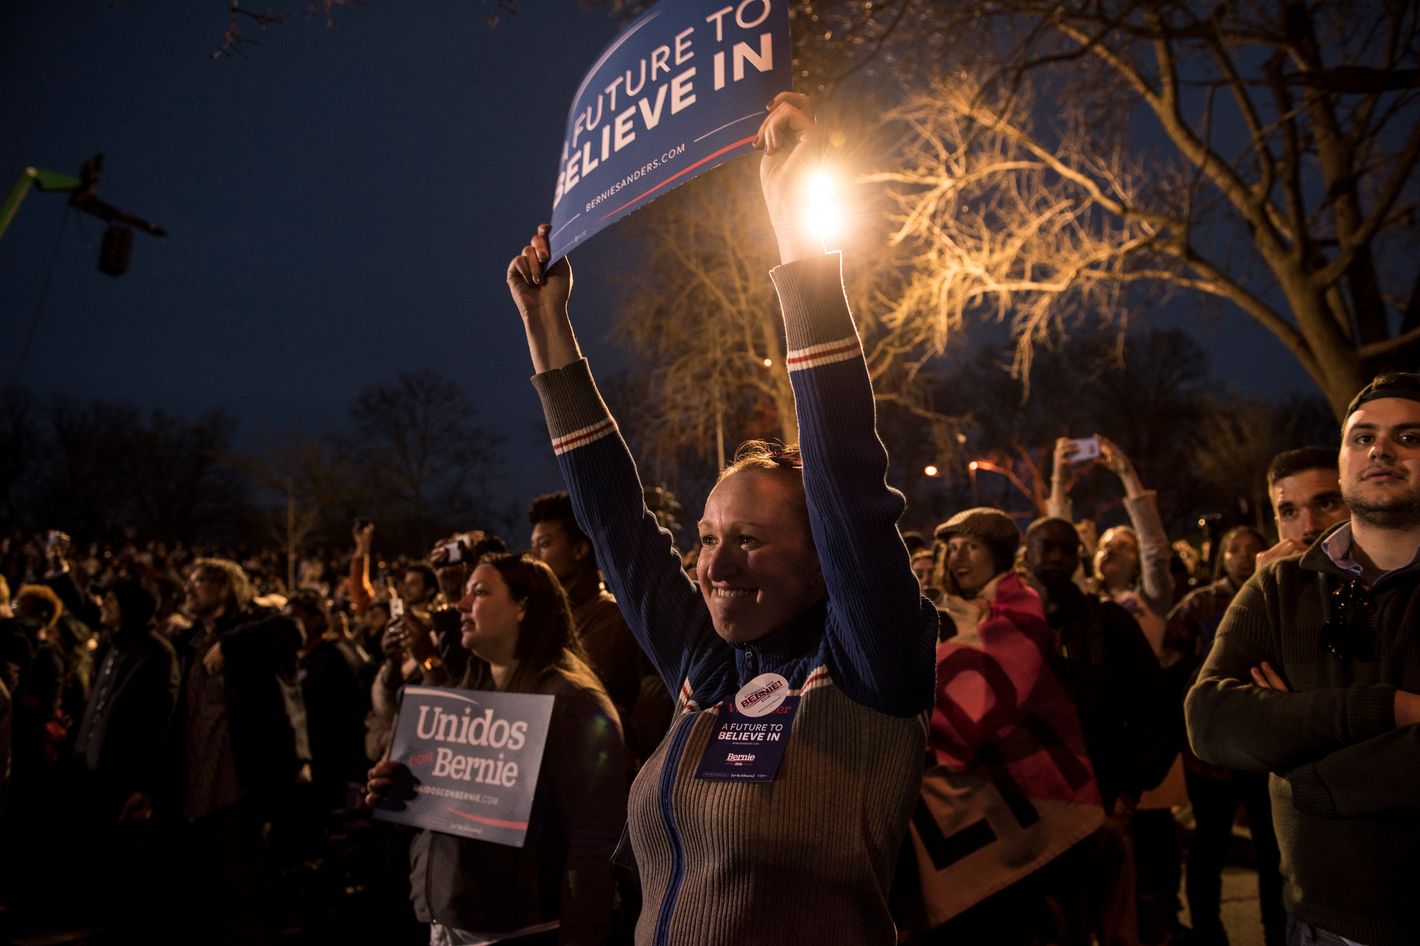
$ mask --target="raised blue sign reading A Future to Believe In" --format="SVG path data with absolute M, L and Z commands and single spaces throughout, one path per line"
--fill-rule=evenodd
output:
M 660 0 L 586 72 L 567 115 L 552 260 L 743 155 L 792 87 L 788 0 Z

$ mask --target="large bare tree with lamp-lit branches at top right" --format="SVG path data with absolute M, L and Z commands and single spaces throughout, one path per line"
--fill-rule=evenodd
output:
M 890 318 L 919 344 L 990 314 L 1024 375 L 1078 320 L 1127 318 L 1132 288 L 1181 290 L 1265 327 L 1338 412 L 1416 362 L 1416 3 L 956 10 L 991 55 L 893 111 L 873 176 L 912 261 Z

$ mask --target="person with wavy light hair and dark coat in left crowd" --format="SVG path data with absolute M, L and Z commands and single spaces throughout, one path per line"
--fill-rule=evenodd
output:
M 196 942 L 267 943 L 277 869 L 271 839 L 311 781 L 298 679 L 301 625 L 260 605 L 246 570 L 197 558 L 173 641 L 179 689 L 162 822 L 183 825 L 183 933 Z M 165 918 L 166 919 L 166 918 Z

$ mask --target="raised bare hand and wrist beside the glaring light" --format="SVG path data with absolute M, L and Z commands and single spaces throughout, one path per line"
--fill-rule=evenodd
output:
M 754 138 L 754 146 L 764 152 L 760 189 L 784 263 L 824 253 L 822 240 L 809 232 L 805 220 L 808 180 L 819 168 L 819 141 L 814 105 L 808 95 L 798 92 L 774 97 Z

